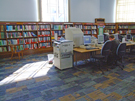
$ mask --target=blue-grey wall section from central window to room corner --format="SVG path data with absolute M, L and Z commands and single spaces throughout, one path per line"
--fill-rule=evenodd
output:
M 100 0 L 70 0 L 71 22 L 95 22 L 100 17 Z

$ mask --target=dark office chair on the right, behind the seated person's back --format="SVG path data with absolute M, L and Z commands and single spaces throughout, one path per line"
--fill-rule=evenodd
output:
M 126 43 L 120 43 L 116 50 L 116 64 L 123 70 L 123 57 L 126 54 Z M 120 62 L 120 64 L 118 64 Z

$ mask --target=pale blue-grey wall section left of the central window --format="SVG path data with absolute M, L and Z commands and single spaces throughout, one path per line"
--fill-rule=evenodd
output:
M 38 21 L 37 0 L 0 0 L 0 21 Z

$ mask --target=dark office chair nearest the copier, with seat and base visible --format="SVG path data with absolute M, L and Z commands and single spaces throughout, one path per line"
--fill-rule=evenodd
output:
M 111 41 L 107 40 L 102 49 L 101 49 L 101 54 L 97 54 L 97 55 L 93 55 L 92 58 L 95 59 L 95 61 L 97 61 L 99 63 L 98 68 L 102 71 L 102 74 L 104 74 L 103 70 L 101 69 L 101 62 L 105 62 L 107 63 L 107 57 L 110 54 L 110 49 L 111 49 Z M 97 63 L 97 64 L 98 64 Z

